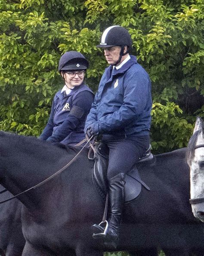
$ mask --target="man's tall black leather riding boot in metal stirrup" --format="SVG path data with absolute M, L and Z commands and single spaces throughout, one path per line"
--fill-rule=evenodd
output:
M 116 248 L 118 242 L 119 226 L 124 205 L 124 173 L 119 173 L 109 180 L 108 200 L 110 205 L 110 215 L 108 219 L 108 229 L 104 236 L 105 245 Z M 93 225 L 100 231 L 104 230 L 99 225 Z

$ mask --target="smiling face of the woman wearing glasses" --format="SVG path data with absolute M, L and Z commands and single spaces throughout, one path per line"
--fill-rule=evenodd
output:
M 85 70 L 69 70 L 61 72 L 62 77 L 65 79 L 66 86 L 71 89 L 74 86 L 80 86 L 84 79 Z

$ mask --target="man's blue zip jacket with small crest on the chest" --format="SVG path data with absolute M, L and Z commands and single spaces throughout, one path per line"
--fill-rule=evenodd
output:
M 120 69 L 105 69 L 85 129 L 95 134 L 134 137 L 148 135 L 151 125 L 151 81 L 144 68 L 130 56 Z

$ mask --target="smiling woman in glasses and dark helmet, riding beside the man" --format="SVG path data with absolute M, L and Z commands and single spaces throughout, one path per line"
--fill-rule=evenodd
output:
M 82 141 L 85 120 L 93 102 L 93 92 L 84 84 L 87 59 L 77 51 L 67 51 L 59 60 L 59 73 L 65 86 L 59 90 L 52 104 L 48 123 L 40 139 L 75 145 Z

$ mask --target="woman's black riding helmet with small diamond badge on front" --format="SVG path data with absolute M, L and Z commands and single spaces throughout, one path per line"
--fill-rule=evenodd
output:
M 87 59 L 78 51 L 67 51 L 59 60 L 59 72 L 68 70 L 86 70 L 89 67 Z

